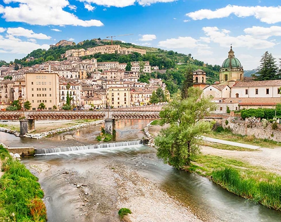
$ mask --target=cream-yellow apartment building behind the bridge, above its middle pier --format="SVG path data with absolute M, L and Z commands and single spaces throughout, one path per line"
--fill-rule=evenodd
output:
M 112 86 L 106 89 L 107 104 L 110 107 L 130 107 L 130 87 Z

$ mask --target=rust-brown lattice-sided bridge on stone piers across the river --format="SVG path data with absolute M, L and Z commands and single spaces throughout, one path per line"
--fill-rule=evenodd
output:
M 162 106 L 149 108 L 102 111 L 0 111 L 0 120 L 20 120 L 20 135 L 23 136 L 35 130 L 36 119 L 105 119 L 105 132 L 112 134 L 115 119 L 159 119 Z

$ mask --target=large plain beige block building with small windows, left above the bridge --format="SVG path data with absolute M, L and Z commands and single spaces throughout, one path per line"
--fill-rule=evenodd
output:
M 40 103 L 45 110 L 59 107 L 59 75 L 57 73 L 27 73 L 26 95 L 32 110 L 38 110 Z

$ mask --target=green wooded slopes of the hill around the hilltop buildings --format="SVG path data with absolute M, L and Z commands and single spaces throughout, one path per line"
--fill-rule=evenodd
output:
M 66 58 L 61 58 L 61 54 L 64 54 L 70 49 L 87 49 L 99 45 L 111 44 L 109 41 L 103 41 L 100 38 L 95 38 L 91 40 L 84 40 L 74 45 L 67 46 L 57 46 L 50 47 L 48 50 L 36 49 L 29 53 L 26 57 L 22 59 L 15 59 L 14 64 L 20 64 L 24 67 L 33 66 L 35 64 L 41 64 L 47 61 L 62 61 Z M 208 65 L 203 61 L 199 61 L 192 57 L 191 54 L 185 55 L 182 53 L 177 53 L 172 50 L 167 51 L 160 48 L 145 47 L 134 45 L 132 43 L 124 43 L 121 41 L 113 41 L 113 44 L 119 44 L 121 47 L 134 47 L 145 49 L 146 54 L 141 55 L 140 53 L 134 52 L 129 55 L 123 54 L 95 54 L 91 56 L 83 56 L 81 59 L 96 58 L 98 62 L 108 62 L 108 61 L 118 61 L 119 63 L 129 63 L 133 61 L 149 61 L 151 67 L 158 66 L 160 71 L 154 72 L 152 74 L 144 74 L 140 78 L 142 81 L 147 81 L 150 77 L 162 78 L 167 84 L 171 93 L 176 92 L 184 80 L 184 74 L 186 72 L 195 71 L 197 69 L 204 70 L 207 74 L 207 83 L 212 84 L 218 80 L 218 72 L 220 69 L 219 65 Z M 33 57 L 33 60 L 30 58 Z M 2 65 L 5 62 L 2 61 Z M 166 72 L 165 72 L 166 71 Z

